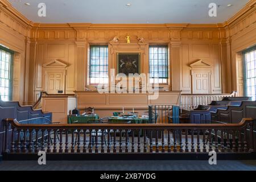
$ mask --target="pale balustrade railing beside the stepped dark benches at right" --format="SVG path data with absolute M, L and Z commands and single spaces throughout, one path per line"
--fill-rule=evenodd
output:
M 223 97 L 236 97 L 237 92 L 231 94 L 181 94 L 181 109 L 195 109 L 198 105 L 208 105 L 212 101 L 221 101 Z

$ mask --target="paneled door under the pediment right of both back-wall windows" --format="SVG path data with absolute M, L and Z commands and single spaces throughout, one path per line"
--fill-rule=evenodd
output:
M 193 94 L 210 94 L 210 71 L 193 71 Z

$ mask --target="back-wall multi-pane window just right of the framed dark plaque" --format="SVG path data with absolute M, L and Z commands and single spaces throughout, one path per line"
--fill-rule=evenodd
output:
M 149 47 L 150 82 L 168 84 L 168 46 Z

